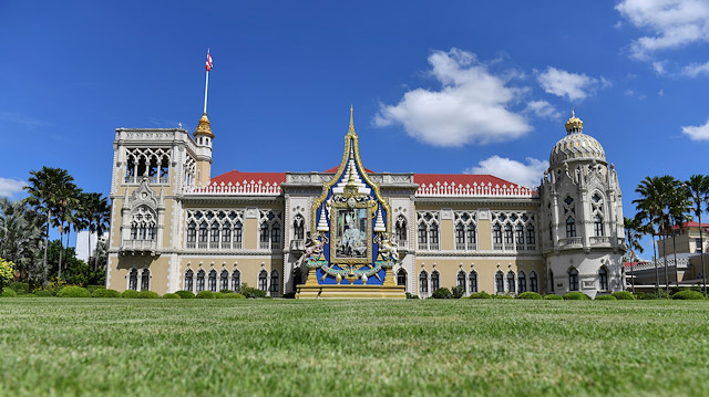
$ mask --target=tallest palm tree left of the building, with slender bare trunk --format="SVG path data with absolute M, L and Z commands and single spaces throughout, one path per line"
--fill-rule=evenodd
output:
M 42 282 L 47 282 L 47 250 L 49 248 L 49 228 L 53 212 L 61 207 L 68 187 L 74 186 L 74 178 L 65 169 L 42 167 L 39 171 L 30 171 L 29 185 L 24 190 L 30 195 L 28 202 L 45 216 L 44 260 L 42 262 Z M 61 269 L 61 267 L 60 267 Z

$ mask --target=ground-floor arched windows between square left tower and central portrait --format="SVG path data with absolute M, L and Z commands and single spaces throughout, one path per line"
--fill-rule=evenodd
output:
M 271 295 L 277 294 L 279 291 L 280 276 L 277 270 L 271 270 L 270 280 L 268 272 L 263 269 L 258 273 L 257 288 L 261 291 L 268 291 Z M 198 293 L 201 291 L 237 291 L 242 286 L 242 272 L 238 269 L 234 269 L 229 273 L 226 269 L 223 269 L 217 275 L 217 271 L 212 269 L 209 273 L 204 269 L 199 269 L 196 273 L 192 269 L 187 269 L 185 272 L 184 290 Z

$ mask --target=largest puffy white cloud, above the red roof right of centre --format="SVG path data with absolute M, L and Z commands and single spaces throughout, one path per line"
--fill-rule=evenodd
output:
M 517 138 L 532 126 L 508 109 L 524 88 L 508 85 L 511 76 L 497 76 L 475 54 L 452 49 L 429 56 L 431 75 L 441 90 L 415 88 L 395 105 L 380 104 L 379 127 L 400 124 L 410 136 L 433 146 L 487 144 Z

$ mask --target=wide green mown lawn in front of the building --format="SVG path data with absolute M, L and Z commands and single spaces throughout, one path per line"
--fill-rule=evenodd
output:
M 707 396 L 709 302 L 0 299 L 0 395 Z

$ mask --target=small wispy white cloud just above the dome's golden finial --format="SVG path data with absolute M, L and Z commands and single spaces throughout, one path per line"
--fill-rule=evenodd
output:
M 605 88 L 610 82 L 604 77 L 594 79 L 585 74 L 566 72 L 548 66 L 538 73 L 536 80 L 548 94 L 567 97 L 569 101 L 583 101 L 593 95 L 598 87 Z

